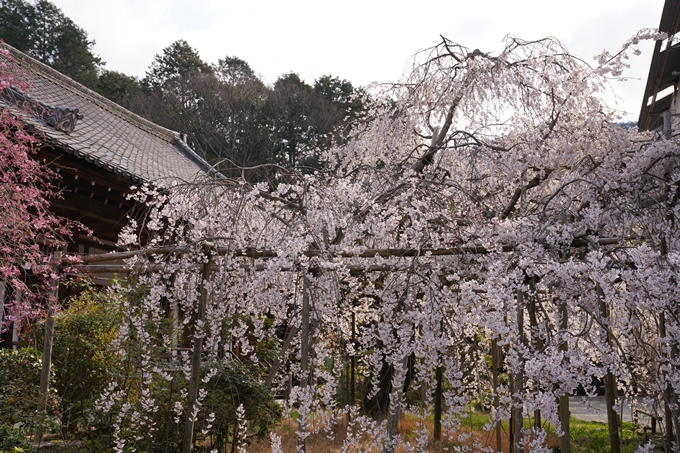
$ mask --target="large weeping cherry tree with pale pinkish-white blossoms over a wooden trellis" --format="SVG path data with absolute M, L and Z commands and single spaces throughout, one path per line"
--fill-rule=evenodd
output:
M 635 41 L 644 38 L 663 37 Z M 153 200 L 148 221 L 120 243 L 138 249 L 149 238 L 124 255 L 148 292 L 127 307 L 120 344 L 141 345 L 149 381 L 167 379 L 142 358 L 169 347 L 149 329 L 162 332 L 162 303 L 176 306 L 195 329 L 193 355 L 178 358 L 194 381 L 235 343 L 257 362 L 257 345 L 280 326 L 268 382 L 289 386 L 300 449 L 312 415 L 331 426 L 333 409 L 352 416 L 347 450 L 365 435 L 384 452 L 423 451 L 427 432 L 401 438 L 397 421 L 408 411 L 424 424 L 433 396 L 412 406 L 409 389 L 442 382 L 451 439 L 483 398 L 490 427 L 512 418 L 516 451 L 550 451 L 544 425 L 525 428 L 525 409 L 562 435 L 565 398 L 592 396 L 593 377 L 610 396 L 618 383 L 657 401 L 677 432 L 680 145 L 621 128 L 603 101 L 630 45 L 590 66 L 553 39 L 509 37 L 499 53 L 442 39 L 405 80 L 372 93 L 367 121 L 320 153 L 326 171 L 277 167 L 268 184 L 142 189 L 139 199 Z M 314 91 L 294 74 L 274 90 Z M 491 379 L 489 355 L 504 383 Z M 329 363 L 339 356 L 365 370 L 367 404 L 338 407 L 342 374 Z M 198 387 L 177 399 L 187 433 Z M 152 393 L 123 388 L 112 387 L 107 407 L 142 422 L 121 426 L 118 442 L 152 448 L 131 433 L 156 429 L 145 416 Z M 368 411 L 377 397 L 383 422 Z

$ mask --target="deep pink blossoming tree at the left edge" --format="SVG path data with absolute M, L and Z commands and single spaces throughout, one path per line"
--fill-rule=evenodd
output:
M 26 89 L 11 54 L 0 47 L 0 95 L 9 87 Z M 26 106 L 27 115 L 33 114 Z M 58 175 L 33 158 L 40 146 L 16 114 L 0 110 L 0 281 L 10 303 L 3 307 L 0 328 L 21 322 L 55 304 L 51 251 L 63 246 L 77 223 L 50 212 L 50 200 L 59 197 Z

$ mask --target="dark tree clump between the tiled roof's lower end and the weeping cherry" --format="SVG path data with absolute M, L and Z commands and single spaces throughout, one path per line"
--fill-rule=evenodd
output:
M 332 76 L 310 86 L 290 73 L 268 87 L 243 59 L 209 65 L 186 41 L 157 55 L 141 83 L 131 110 L 186 134 L 220 171 L 249 181 L 270 176 L 263 164 L 318 168 L 320 152 L 346 137 L 366 102 Z

